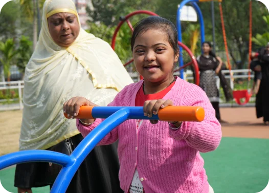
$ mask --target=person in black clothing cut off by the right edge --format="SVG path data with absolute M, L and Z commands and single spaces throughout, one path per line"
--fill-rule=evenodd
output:
M 252 57 L 259 59 L 254 70 L 261 71 L 260 87 L 256 95 L 256 115 L 257 118 L 263 117 L 263 122 L 267 125 L 269 122 L 269 42 L 258 53 L 252 53 Z

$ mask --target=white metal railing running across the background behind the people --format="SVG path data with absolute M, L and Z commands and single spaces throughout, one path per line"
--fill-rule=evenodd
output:
M 230 71 L 229 70 L 222 70 L 221 71 L 227 79 L 230 79 L 230 85 L 233 89 L 233 79 L 230 76 Z M 247 79 L 248 78 L 248 69 L 242 69 L 242 70 L 232 70 L 233 72 L 233 78 L 243 78 Z M 238 73 L 242 73 L 242 75 L 237 75 Z M 137 82 L 139 80 L 139 74 L 137 72 L 129 73 L 133 81 Z M 174 75 L 179 75 L 179 73 L 175 73 Z M 186 80 L 193 80 L 193 74 L 191 71 L 187 71 L 184 74 Z M 251 74 L 251 78 L 253 78 L 254 75 Z M 217 87 L 220 87 L 220 81 L 218 76 L 216 76 L 217 79 Z M 18 98 L 15 99 L 2 99 L 0 100 L 0 111 L 5 111 L 5 110 L 21 110 L 23 109 L 23 89 L 24 89 L 24 81 L 10 81 L 10 82 L 0 82 L 0 91 L 2 90 L 9 90 L 9 89 L 18 89 Z M 253 100 L 253 98 L 252 98 Z M 17 103 L 12 103 L 12 104 L 3 104 L 6 102 L 11 102 L 11 101 L 18 101 Z M 222 102 L 222 101 L 220 101 Z

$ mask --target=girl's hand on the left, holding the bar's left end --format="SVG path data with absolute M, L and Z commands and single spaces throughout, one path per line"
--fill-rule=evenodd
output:
M 95 103 L 85 99 L 84 97 L 73 97 L 64 102 L 63 113 L 68 114 L 68 117 L 76 118 L 79 113 L 80 106 L 97 106 Z

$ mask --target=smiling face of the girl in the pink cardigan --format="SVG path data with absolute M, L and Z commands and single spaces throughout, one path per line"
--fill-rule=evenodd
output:
M 137 71 L 150 82 L 173 76 L 173 65 L 178 61 L 178 55 L 174 56 L 167 34 L 153 29 L 136 38 L 132 51 Z

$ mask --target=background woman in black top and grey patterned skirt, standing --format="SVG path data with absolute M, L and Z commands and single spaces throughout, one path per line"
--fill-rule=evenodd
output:
M 220 78 L 220 84 L 225 93 L 226 100 L 232 99 L 231 89 L 229 88 L 225 77 L 221 73 L 222 60 L 211 50 L 210 42 L 205 41 L 202 45 L 204 54 L 197 57 L 197 62 L 200 71 L 200 87 L 206 92 L 213 108 L 216 112 L 216 118 L 220 123 L 225 123 L 220 118 L 219 112 L 219 91 L 217 88 L 217 82 L 215 75 Z

